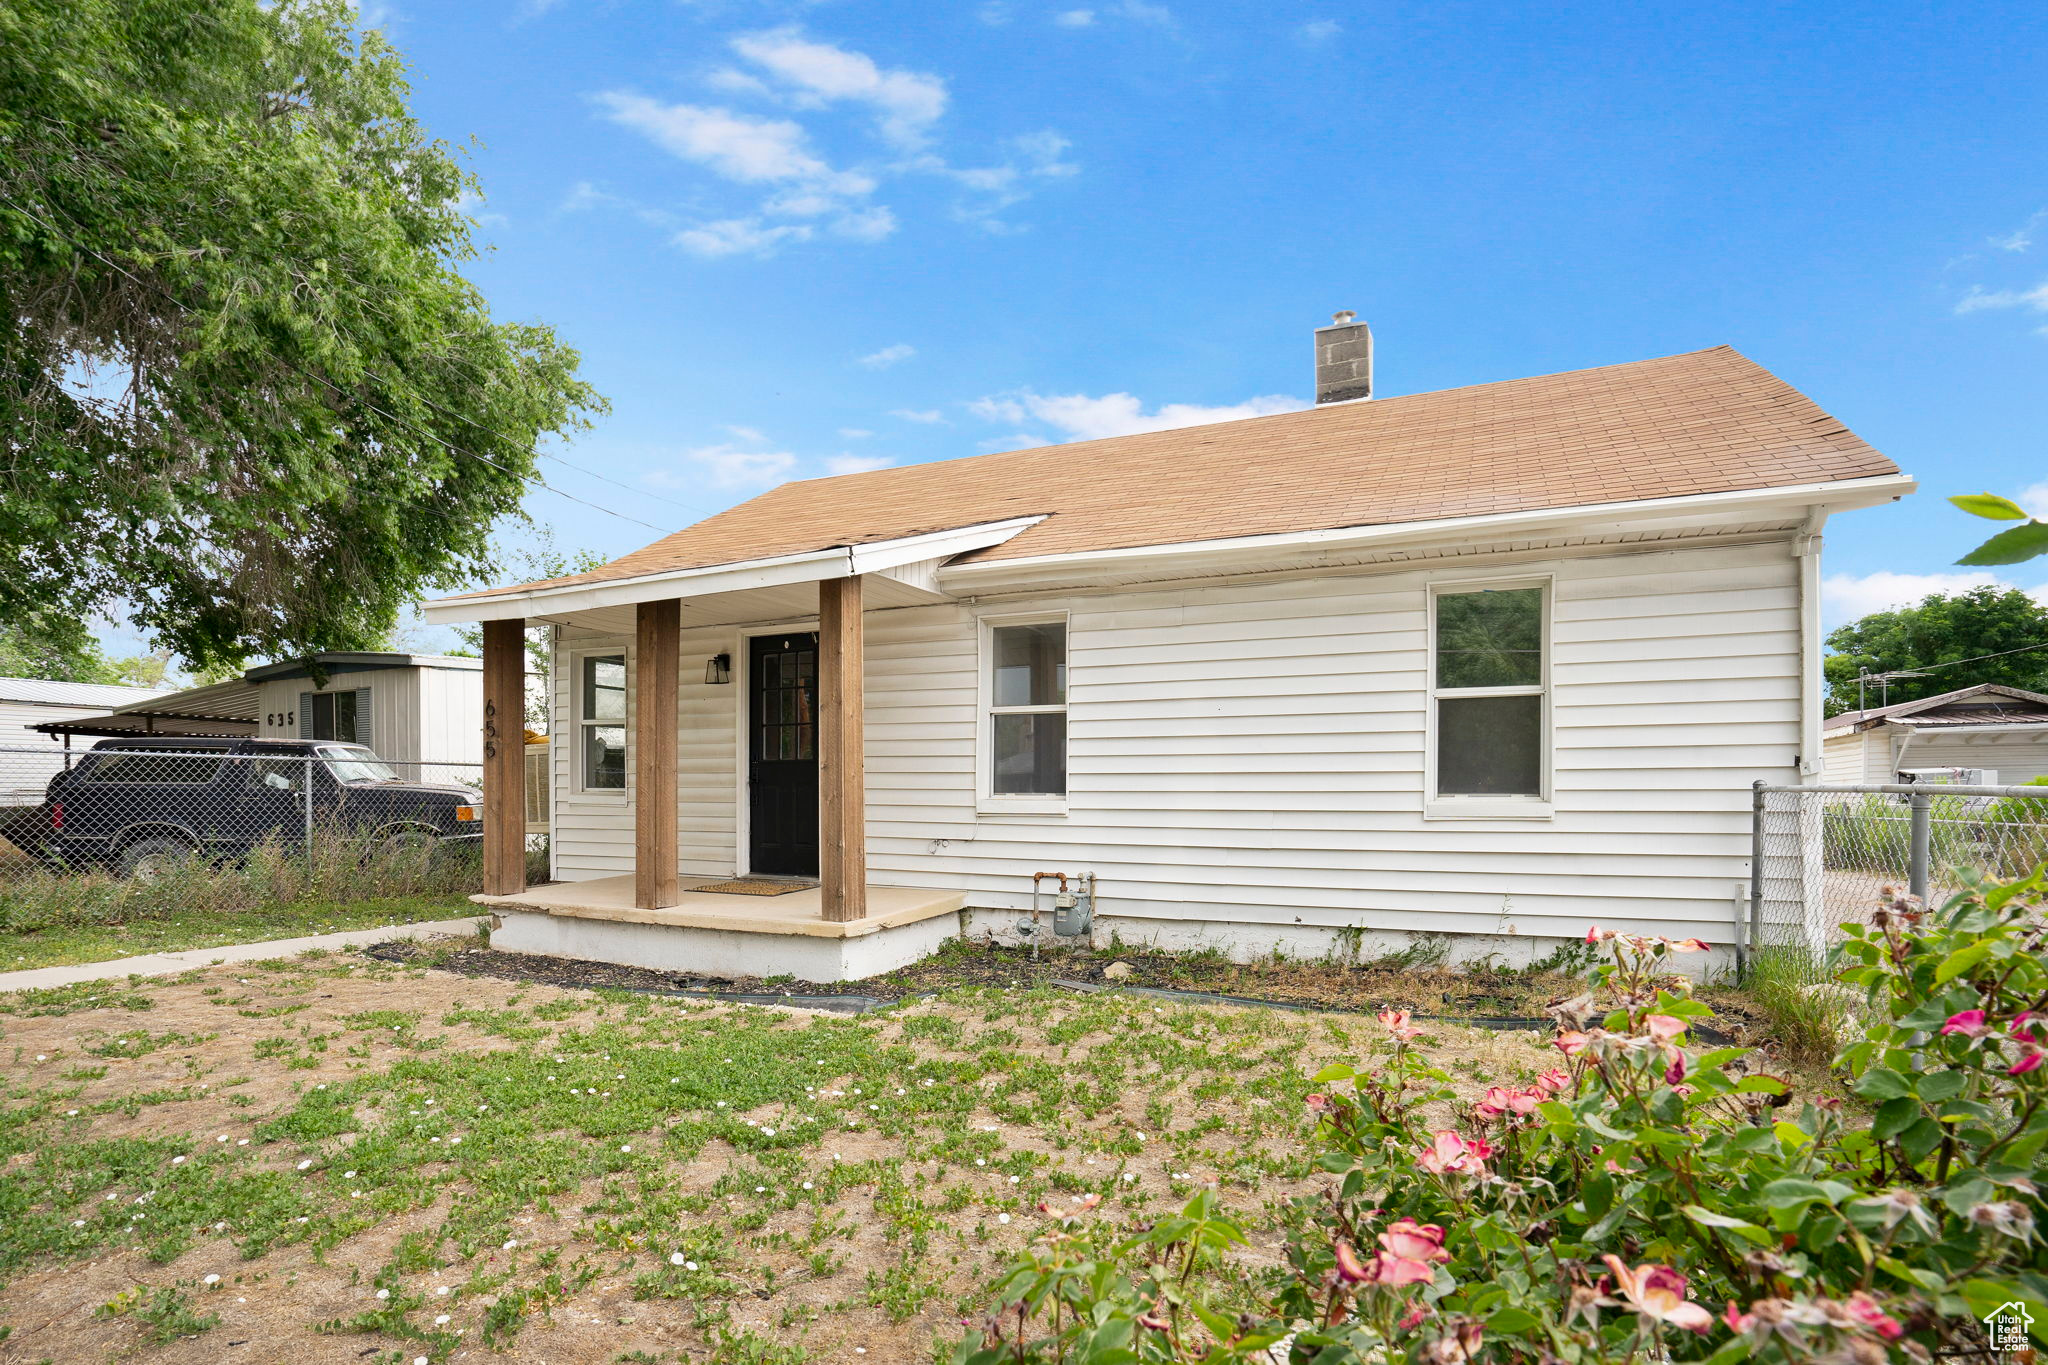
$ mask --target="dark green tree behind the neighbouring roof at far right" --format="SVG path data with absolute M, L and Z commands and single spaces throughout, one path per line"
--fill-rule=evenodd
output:
M 1890 673 L 1894 669 L 1942 667 L 1925 677 L 1901 677 L 1888 684 L 1892 702 L 1913 702 L 1937 692 L 1974 688 L 1976 684 L 2007 684 L 2030 692 L 2048 692 L 2048 608 L 2017 587 L 1972 587 L 1960 593 L 1933 593 L 1919 606 L 1894 612 L 1872 612 L 1827 636 L 1833 651 L 1825 661 L 1827 714 L 1858 708 L 1858 673 Z M 2005 653 L 2023 649 L 2030 653 Z M 1978 655 L 2003 655 L 1978 659 Z M 1960 663 L 1976 659 L 1976 663 Z M 1876 706 L 1880 692 L 1866 688 L 1864 704 Z

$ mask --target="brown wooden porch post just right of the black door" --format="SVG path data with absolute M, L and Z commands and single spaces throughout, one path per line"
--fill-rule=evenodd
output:
M 868 915 L 860 577 L 817 583 L 817 872 L 823 917 Z

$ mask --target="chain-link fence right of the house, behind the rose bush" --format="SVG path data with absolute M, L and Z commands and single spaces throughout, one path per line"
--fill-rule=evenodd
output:
M 1751 948 L 1823 958 L 1884 886 L 1931 905 L 1960 874 L 2013 878 L 2048 862 L 2048 786 L 1755 788 Z

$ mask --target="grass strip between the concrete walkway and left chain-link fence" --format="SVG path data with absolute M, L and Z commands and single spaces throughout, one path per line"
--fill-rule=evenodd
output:
M 463 919 L 477 907 L 457 892 L 383 896 L 377 900 L 311 900 L 260 909 L 188 909 L 133 923 L 55 923 L 0 933 L 0 972 L 74 962 L 109 962 L 154 952 L 266 943 L 344 929 L 381 929 L 432 919 Z

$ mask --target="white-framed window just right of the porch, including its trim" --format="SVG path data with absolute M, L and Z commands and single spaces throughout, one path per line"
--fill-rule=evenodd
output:
M 981 620 L 985 814 L 1067 812 L 1067 616 Z

